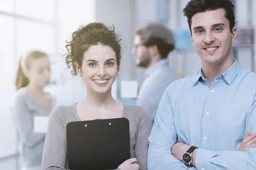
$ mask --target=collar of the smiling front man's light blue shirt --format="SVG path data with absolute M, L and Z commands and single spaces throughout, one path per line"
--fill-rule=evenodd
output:
M 233 65 L 231 65 L 230 68 L 228 68 L 224 73 L 221 74 L 223 76 L 223 78 L 225 79 L 225 81 L 229 85 L 233 82 L 233 80 L 235 79 L 236 75 L 239 73 L 239 71 L 241 69 L 241 67 L 240 67 L 239 63 L 237 62 L 237 60 L 233 59 L 233 61 L 234 61 Z M 203 72 L 202 72 L 202 68 L 195 75 L 195 79 L 193 80 L 192 85 L 194 85 L 200 78 L 204 78 L 204 75 L 203 75 Z

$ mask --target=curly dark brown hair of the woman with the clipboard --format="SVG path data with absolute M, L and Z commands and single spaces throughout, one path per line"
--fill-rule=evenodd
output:
M 116 53 L 117 65 L 120 65 L 121 60 L 121 45 L 120 40 L 116 40 L 115 27 L 105 26 L 103 23 L 90 23 L 86 26 L 81 26 L 77 31 L 73 32 L 70 42 L 66 41 L 67 54 L 66 64 L 67 67 L 73 67 L 71 74 L 76 73 L 76 62 L 79 68 L 84 59 L 84 52 L 87 51 L 91 45 L 107 45 Z

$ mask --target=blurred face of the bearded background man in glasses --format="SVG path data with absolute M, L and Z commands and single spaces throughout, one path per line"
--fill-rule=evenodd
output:
M 134 38 L 134 48 L 132 54 L 135 56 L 136 65 L 139 67 L 147 68 L 151 62 L 149 48 L 143 45 L 138 35 Z

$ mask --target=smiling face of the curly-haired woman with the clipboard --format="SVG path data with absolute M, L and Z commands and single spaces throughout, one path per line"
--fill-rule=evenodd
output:
M 109 46 L 92 45 L 84 52 L 82 66 L 76 71 L 82 75 L 88 90 L 96 93 L 108 92 L 119 72 L 116 53 Z

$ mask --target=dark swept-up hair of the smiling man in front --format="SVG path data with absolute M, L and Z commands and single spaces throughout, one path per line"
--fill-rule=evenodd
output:
M 213 11 L 219 8 L 225 10 L 225 17 L 230 23 L 230 32 L 232 32 L 235 26 L 235 6 L 230 0 L 190 0 L 185 8 L 183 9 L 183 14 L 187 17 L 189 29 L 191 30 L 192 17 L 199 12 Z

